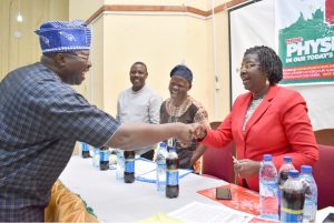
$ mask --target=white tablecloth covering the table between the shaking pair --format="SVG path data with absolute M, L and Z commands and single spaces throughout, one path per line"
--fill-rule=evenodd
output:
M 102 222 L 135 222 L 175 211 L 193 201 L 222 205 L 197 191 L 226 184 L 220 180 L 188 174 L 179 180 L 179 196 L 167 199 L 156 191 L 153 183 L 118 182 L 115 170 L 94 169 L 91 159 L 80 156 L 71 158 L 60 180 L 73 193 L 80 194 Z

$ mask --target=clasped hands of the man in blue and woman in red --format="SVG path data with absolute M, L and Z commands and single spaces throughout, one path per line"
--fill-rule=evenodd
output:
M 191 123 L 191 124 L 180 124 L 179 132 L 177 133 L 176 138 L 181 142 L 184 145 L 189 145 L 193 139 L 204 139 L 206 135 L 206 126 L 199 123 Z

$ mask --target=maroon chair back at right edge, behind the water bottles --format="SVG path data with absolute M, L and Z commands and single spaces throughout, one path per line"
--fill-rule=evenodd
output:
M 318 144 L 320 160 L 316 162 L 313 176 L 317 185 L 317 209 L 334 205 L 334 146 Z

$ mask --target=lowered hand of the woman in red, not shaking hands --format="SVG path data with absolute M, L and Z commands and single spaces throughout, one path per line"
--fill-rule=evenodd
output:
M 249 159 L 234 160 L 234 171 L 244 179 L 258 174 L 261 162 Z

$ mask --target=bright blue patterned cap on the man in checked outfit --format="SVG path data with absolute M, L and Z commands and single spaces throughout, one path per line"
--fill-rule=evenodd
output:
M 89 50 L 91 30 L 82 20 L 48 21 L 35 31 L 42 52 Z

